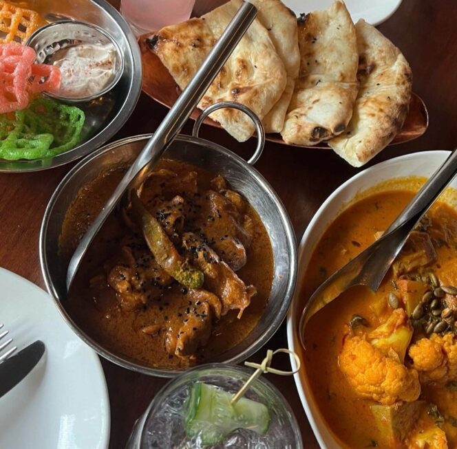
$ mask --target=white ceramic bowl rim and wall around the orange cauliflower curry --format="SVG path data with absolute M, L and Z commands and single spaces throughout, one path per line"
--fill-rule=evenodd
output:
M 298 309 L 301 283 L 303 282 L 304 274 L 312 256 L 312 251 L 330 223 L 345 209 L 345 206 L 351 204 L 354 197 L 363 191 L 389 179 L 409 176 L 429 177 L 436 171 L 438 166 L 443 164 L 448 155 L 449 151 L 424 151 L 381 162 L 381 164 L 367 168 L 348 179 L 347 182 L 337 188 L 322 204 L 312 218 L 299 245 L 297 287 L 287 318 L 287 337 L 290 350 L 299 352 L 300 343 L 297 329 L 301 315 L 301 309 Z M 451 187 L 457 188 L 457 179 L 454 179 Z M 291 358 L 290 362 L 295 369 L 295 359 Z M 319 413 L 304 373 L 295 374 L 295 384 L 297 384 L 301 404 L 303 404 L 312 430 L 315 432 L 321 448 L 341 448 Z M 306 445 L 306 441 L 304 443 Z

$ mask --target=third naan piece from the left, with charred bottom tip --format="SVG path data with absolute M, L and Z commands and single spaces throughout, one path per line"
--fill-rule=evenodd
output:
M 282 138 L 315 145 L 342 133 L 357 97 L 357 40 L 342 1 L 299 20 L 300 72 Z

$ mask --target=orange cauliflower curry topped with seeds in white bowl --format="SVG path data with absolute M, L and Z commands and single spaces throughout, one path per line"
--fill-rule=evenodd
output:
M 301 298 L 379 237 L 411 190 L 372 193 L 317 244 Z M 457 448 L 457 212 L 438 202 L 379 291 L 353 287 L 310 318 L 306 380 L 343 448 Z

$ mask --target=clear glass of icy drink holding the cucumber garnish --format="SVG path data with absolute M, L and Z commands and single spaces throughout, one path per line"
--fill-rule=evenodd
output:
M 229 419 L 226 409 L 228 404 L 209 402 L 203 395 L 195 398 L 191 393 L 195 391 L 195 384 L 216 387 L 217 391 L 224 391 L 232 396 L 252 373 L 253 370 L 241 366 L 206 364 L 176 377 L 158 392 L 148 410 L 138 419 L 127 449 L 302 449 L 299 426 L 289 404 L 264 376 L 251 384 L 244 398 L 249 399 L 250 404 L 264 404 L 261 406 L 268 409 L 266 428 L 262 432 L 251 430 L 255 427 L 255 418 L 260 416 L 259 405 L 253 407 L 242 404 L 240 399 L 243 419 L 251 425 L 244 428 L 234 426 L 217 442 L 209 443 L 208 433 L 211 437 L 219 435 L 213 433 L 214 430 L 219 430 Z M 195 410 L 195 404 L 198 410 Z M 193 431 L 191 435 L 189 411 L 192 411 L 197 421 L 206 417 L 200 431 Z M 262 421 L 264 419 L 257 419 L 257 424 L 262 424 Z

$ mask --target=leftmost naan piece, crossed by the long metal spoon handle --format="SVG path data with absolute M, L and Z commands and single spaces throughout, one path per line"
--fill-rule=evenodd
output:
M 241 4 L 242 0 L 231 0 L 200 19 L 162 28 L 150 36 L 149 47 L 180 89 L 189 84 Z M 268 31 L 255 19 L 198 107 L 205 109 L 220 101 L 240 102 L 262 120 L 281 97 L 286 83 L 284 63 Z M 255 129 L 251 119 L 235 109 L 221 109 L 211 118 L 240 142 L 250 138 Z

